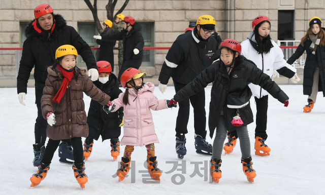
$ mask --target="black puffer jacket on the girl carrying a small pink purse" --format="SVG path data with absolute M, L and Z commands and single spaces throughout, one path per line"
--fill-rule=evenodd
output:
M 241 57 L 241 62 L 233 68 L 228 75 L 224 63 L 221 60 L 216 61 L 198 75 L 191 83 L 187 84 L 183 89 L 178 91 L 174 96 L 176 101 L 181 101 L 199 91 L 203 90 L 209 83 L 214 82 L 211 89 L 211 102 L 209 112 L 209 129 L 210 137 L 213 137 L 214 130 L 218 124 L 220 117 L 225 117 L 228 131 L 236 129 L 231 124 L 233 117 L 236 115 L 237 109 L 228 108 L 225 100 L 226 94 L 238 93 L 246 90 L 251 93 L 248 84 L 253 83 L 267 90 L 274 98 L 281 103 L 288 100 L 288 96 L 279 88 L 279 86 L 271 80 L 270 76 L 263 73 L 256 65 Z M 229 88 L 227 89 L 227 86 Z M 223 108 L 224 115 L 221 115 Z M 239 108 L 239 114 L 244 122 L 244 126 L 253 122 L 253 113 L 250 104 L 243 108 Z

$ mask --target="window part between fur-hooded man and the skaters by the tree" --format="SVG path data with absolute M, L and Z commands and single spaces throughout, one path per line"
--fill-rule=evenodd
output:
M 96 26 L 93 22 L 78 22 L 78 33 L 90 47 L 98 47 L 95 38 L 93 38 L 93 35 L 98 34 Z M 97 52 L 98 50 L 92 50 L 94 56 Z M 83 61 L 80 55 L 78 55 L 77 65 L 79 67 L 86 67 L 86 63 Z

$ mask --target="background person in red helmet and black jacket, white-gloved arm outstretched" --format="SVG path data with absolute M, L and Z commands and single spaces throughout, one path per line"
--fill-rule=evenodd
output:
M 118 81 L 121 79 L 121 74 L 127 68 L 137 68 L 141 66 L 143 58 L 144 41 L 140 32 L 142 26 L 136 22 L 131 16 L 125 16 L 123 21 L 124 30 L 113 33 L 104 34 L 103 36 L 94 35 L 94 38 L 103 41 L 120 41 L 123 40 L 123 62 L 121 69 L 118 72 Z

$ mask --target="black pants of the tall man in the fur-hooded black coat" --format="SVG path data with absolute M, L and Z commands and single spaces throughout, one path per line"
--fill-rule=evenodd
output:
M 46 128 L 47 128 L 47 121 L 43 118 L 42 115 L 42 108 L 41 108 L 41 99 L 43 96 L 43 90 L 35 88 L 35 103 L 37 106 L 37 118 L 35 123 L 35 143 L 44 143 L 46 141 Z M 71 145 L 70 139 L 62 140 L 67 142 L 68 145 Z

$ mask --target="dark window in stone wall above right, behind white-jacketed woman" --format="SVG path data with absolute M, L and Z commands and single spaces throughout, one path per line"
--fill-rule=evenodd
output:
M 278 40 L 295 40 L 294 14 L 294 10 L 278 11 Z

